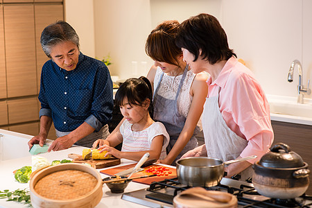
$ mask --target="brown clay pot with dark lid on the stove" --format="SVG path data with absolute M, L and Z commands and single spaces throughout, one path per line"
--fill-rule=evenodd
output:
M 309 187 L 308 164 L 291 151 L 287 144 L 278 143 L 252 166 L 254 188 L 263 196 L 288 199 L 301 196 Z

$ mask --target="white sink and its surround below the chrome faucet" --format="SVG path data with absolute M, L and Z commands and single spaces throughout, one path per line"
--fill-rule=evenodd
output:
M 297 103 L 297 97 L 268 95 L 272 121 L 312 125 L 312 99 Z

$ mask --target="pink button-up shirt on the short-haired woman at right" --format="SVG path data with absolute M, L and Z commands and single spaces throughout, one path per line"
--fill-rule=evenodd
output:
M 208 97 L 217 96 L 220 87 L 219 107 L 225 123 L 236 135 L 248 140 L 241 157 L 257 155 L 248 162 L 258 161 L 268 152 L 274 135 L 266 95 L 250 69 L 232 57 L 218 78 L 213 83 L 209 78 L 207 85 Z

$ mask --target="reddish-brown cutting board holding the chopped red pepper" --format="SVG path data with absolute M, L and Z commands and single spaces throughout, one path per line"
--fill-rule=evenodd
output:
M 114 175 L 116 173 L 119 173 L 121 171 L 125 171 L 129 168 L 133 168 L 136 164 L 130 164 L 130 165 L 126 165 L 126 166 L 119 166 L 119 167 L 115 167 L 115 168 L 109 168 L 109 169 L 105 169 L 100 171 L 100 173 L 105 173 L 107 175 Z M 133 175 L 131 177 L 137 177 L 137 176 L 144 176 L 144 175 L 152 175 L 153 173 L 146 173 L 146 170 L 148 168 L 150 168 L 151 166 L 161 166 L 158 164 L 152 164 L 150 166 L 146 166 L 144 168 L 144 171 L 140 171 L 138 173 L 133 173 Z M 169 171 L 171 171 L 172 173 L 168 176 L 155 176 L 155 177 L 145 177 L 145 178 L 139 178 L 139 179 L 135 179 L 133 180 L 134 182 L 139 182 L 141 184 L 151 184 L 152 182 L 159 182 L 165 179 L 171 179 L 171 178 L 175 178 L 177 177 L 177 171 L 175 170 L 175 168 L 171 168 L 166 166 L 166 168 L 169 169 Z

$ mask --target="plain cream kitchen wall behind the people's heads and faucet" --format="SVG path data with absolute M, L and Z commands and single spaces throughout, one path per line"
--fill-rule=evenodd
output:
M 110 72 L 122 79 L 146 75 L 153 61 L 144 44 L 159 22 L 207 12 L 219 19 L 230 47 L 266 94 L 297 95 L 297 69 L 293 83 L 287 81 L 295 59 L 302 62 L 304 85 L 312 80 L 309 0 L 66 0 L 65 8 L 65 18 L 80 35 L 81 51 L 98 58 L 110 54 Z

